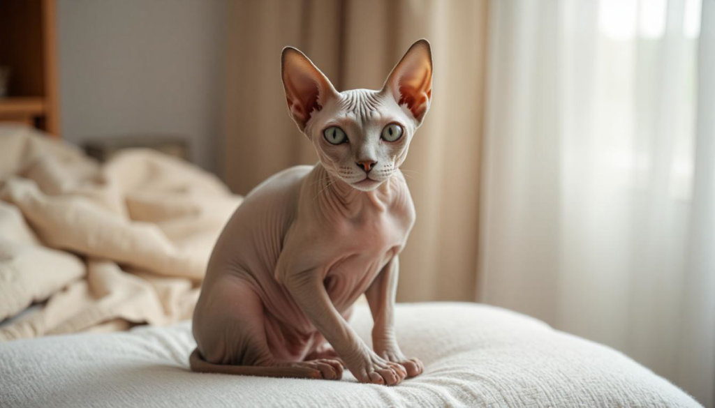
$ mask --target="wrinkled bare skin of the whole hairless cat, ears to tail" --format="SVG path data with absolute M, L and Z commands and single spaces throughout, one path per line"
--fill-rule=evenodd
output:
M 360 382 L 399 384 L 423 371 L 400 351 L 393 309 L 398 254 L 415 221 L 399 167 L 429 109 L 430 46 L 413 44 L 381 91 L 337 92 L 292 48 L 282 76 L 320 163 L 264 181 L 222 232 L 194 312 L 192 369 L 340 379 L 347 367 Z M 390 124 L 401 126 L 400 139 L 381 137 Z M 327 141 L 331 126 L 347 143 Z M 347 324 L 363 293 L 373 350 Z

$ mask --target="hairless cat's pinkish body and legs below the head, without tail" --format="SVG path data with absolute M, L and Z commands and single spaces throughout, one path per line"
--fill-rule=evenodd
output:
M 294 167 L 265 181 L 237 209 L 217 242 L 194 314 L 207 362 L 289 362 L 310 368 L 306 377 L 339 378 L 337 362 L 290 364 L 303 362 L 325 337 L 361 382 L 395 384 L 419 374 L 420 363 L 402 356 L 391 322 L 381 318 L 392 308 L 391 277 L 414 222 L 404 179 L 395 174 L 368 192 L 329 182 L 320 165 Z M 378 312 L 377 354 L 345 322 L 366 291 Z M 315 324 L 310 315 L 320 316 Z

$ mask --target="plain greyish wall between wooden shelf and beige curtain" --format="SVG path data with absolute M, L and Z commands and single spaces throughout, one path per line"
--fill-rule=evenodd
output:
M 58 0 L 64 138 L 179 134 L 215 170 L 222 0 Z

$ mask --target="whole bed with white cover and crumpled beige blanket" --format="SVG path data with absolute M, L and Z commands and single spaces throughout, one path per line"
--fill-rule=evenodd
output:
M 398 304 L 397 387 L 197 374 L 191 316 L 241 197 L 151 151 L 0 127 L 0 407 L 699 407 L 613 349 L 480 304 Z M 370 342 L 370 313 L 352 325 Z

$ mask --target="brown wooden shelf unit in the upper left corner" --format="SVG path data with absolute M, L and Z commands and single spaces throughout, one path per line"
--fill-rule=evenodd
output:
M 59 137 L 54 0 L 0 0 L 0 67 L 9 67 L 0 122 Z

